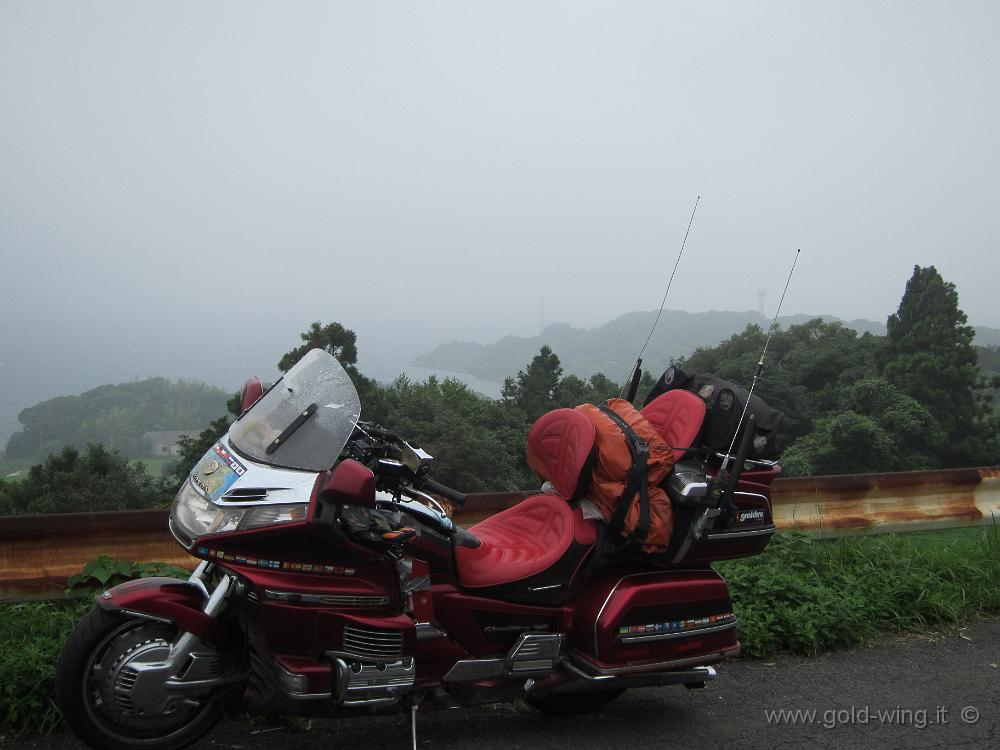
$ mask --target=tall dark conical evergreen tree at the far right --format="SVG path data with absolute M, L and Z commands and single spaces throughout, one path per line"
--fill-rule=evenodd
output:
M 945 467 L 993 463 L 998 454 L 967 320 L 955 285 L 934 266 L 914 266 L 899 309 L 886 322 L 885 378 L 937 420 L 947 438 Z

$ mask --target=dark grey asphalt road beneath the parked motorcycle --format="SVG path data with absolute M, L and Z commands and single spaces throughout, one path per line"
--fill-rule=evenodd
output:
M 806 724 L 768 719 L 767 712 L 780 710 L 816 713 Z M 435 750 L 1000 748 L 1000 620 L 945 637 L 907 637 L 816 659 L 731 662 L 705 690 L 636 690 L 582 718 L 550 719 L 524 704 L 425 714 L 419 743 Z M 307 733 L 227 722 L 195 747 L 304 746 L 403 749 L 409 747 L 409 729 L 402 717 L 316 721 Z M 56 738 L 5 747 L 81 746 Z

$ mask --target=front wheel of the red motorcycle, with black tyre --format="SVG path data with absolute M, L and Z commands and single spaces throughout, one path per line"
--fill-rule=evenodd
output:
M 176 636 L 171 625 L 100 607 L 80 621 L 56 668 L 56 703 L 77 737 L 109 750 L 176 750 L 215 726 L 217 699 L 171 694 L 162 680 L 140 679 L 144 669 L 167 660 Z

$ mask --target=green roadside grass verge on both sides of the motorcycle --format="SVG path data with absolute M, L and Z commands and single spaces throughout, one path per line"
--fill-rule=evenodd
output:
M 812 655 L 1000 612 L 1000 525 L 836 541 L 778 534 L 763 555 L 716 567 L 748 657 Z M 61 726 L 56 659 L 90 606 L 0 603 L 0 735 Z

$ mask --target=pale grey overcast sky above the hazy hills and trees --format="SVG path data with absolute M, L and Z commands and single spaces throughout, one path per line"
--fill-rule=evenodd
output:
M 988 0 L 0 0 L 0 387 L 232 386 L 312 320 L 380 372 L 537 333 L 542 298 L 594 326 L 659 305 L 697 195 L 670 308 L 770 315 L 801 247 L 783 312 L 884 320 L 934 264 L 1000 327 L 998 29 Z

